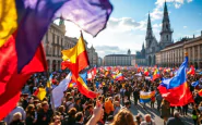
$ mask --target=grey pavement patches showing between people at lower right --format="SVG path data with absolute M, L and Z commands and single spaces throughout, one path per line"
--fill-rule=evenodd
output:
M 141 113 L 142 116 L 144 114 L 151 114 L 152 118 L 155 121 L 156 125 L 164 125 L 163 118 L 161 118 L 161 114 L 157 111 L 157 104 L 155 103 L 154 109 L 151 109 L 150 103 L 146 104 L 145 108 L 143 105 L 138 104 L 138 107 L 134 107 L 133 101 L 130 108 L 130 111 L 135 116 L 138 113 Z M 193 121 L 191 118 L 191 108 L 189 108 L 188 115 L 182 116 L 180 115 L 181 121 L 185 123 L 185 125 L 193 125 Z

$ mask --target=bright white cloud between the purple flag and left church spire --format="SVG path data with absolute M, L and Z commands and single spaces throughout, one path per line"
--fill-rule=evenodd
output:
M 55 21 L 59 24 L 59 20 Z M 66 36 L 80 37 L 80 28 L 71 23 L 64 22 Z M 83 32 L 84 39 L 92 45 L 98 57 L 105 57 L 112 53 L 127 53 L 131 49 L 131 53 L 135 54 L 136 50 L 141 50 L 142 42 L 145 39 L 147 18 L 145 21 L 135 21 L 132 17 L 110 17 L 105 30 L 100 32 L 95 38 Z M 105 45 L 105 46 L 104 46 Z

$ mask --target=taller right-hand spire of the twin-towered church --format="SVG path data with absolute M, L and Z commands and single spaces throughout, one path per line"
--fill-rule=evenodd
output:
M 171 37 L 173 30 L 170 28 L 170 22 L 169 22 L 166 2 L 164 5 L 164 17 L 162 21 L 162 32 L 159 33 L 159 35 L 161 35 L 161 40 L 159 40 L 161 49 L 164 49 L 166 46 L 173 43 L 173 37 Z

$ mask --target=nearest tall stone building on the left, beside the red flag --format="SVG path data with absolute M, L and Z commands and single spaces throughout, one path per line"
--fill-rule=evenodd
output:
M 61 67 L 61 50 L 64 47 L 66 25 L 60 21 L 59 25 L 51 24 L 43 38 L 48 71 L 58 71 Z

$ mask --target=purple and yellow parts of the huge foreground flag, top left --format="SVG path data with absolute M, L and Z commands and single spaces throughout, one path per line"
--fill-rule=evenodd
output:
M 17 72 L 35 55 L 50 23 L 62 17 L 96 36 L 112 12 L 108 0 L 3 0 L 0 2 L 0 47 L 17 29 Z

